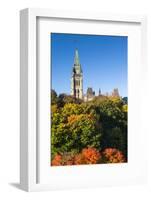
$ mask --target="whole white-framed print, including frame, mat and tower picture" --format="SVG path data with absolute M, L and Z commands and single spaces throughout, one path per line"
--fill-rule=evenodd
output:
M 144 183 L 146 17 L 20 16 L 21 187 Z

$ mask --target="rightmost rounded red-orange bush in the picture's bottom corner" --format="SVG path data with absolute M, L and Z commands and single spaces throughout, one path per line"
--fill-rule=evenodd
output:
M 125 162 L 125 157 L 121 151 L 115 148 L 107 148 L 102 152 L 102 157 L 105 163 L 122 163 Z

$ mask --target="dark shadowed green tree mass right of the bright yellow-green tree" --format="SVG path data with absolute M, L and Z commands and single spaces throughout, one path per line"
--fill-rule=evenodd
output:
M 108 99 L 100 103 L 99 111 L 102 148 L 117 148 L 127 157 L 127 105 L 120 99 Z

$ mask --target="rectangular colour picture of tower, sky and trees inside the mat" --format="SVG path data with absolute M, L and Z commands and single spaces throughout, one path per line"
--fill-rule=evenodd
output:
M 50 33 L 50 167 L 128 162 L 128 36 Z

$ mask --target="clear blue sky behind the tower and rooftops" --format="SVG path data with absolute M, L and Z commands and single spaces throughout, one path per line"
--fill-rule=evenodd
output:
M 78 49 L 83 70 L 84 93 L 92 87 L 98 94 L 119 89 L 127 96 L 126 36 L 82 35 L 51 33 L 52 89 L 57 94 L 70 94 L 70 77 Z

